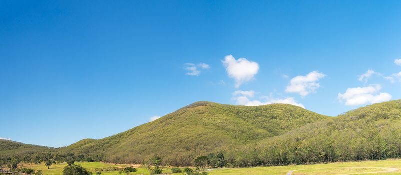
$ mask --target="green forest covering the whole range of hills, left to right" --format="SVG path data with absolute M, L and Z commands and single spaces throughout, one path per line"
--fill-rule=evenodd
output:
M 197 102 L 107 138 L 62 148 L 0 140 L 0 160 L 143 163 L 172 166 L 271 166 L 401 158 L 401 100 L 328 117 L 289 104 Z

